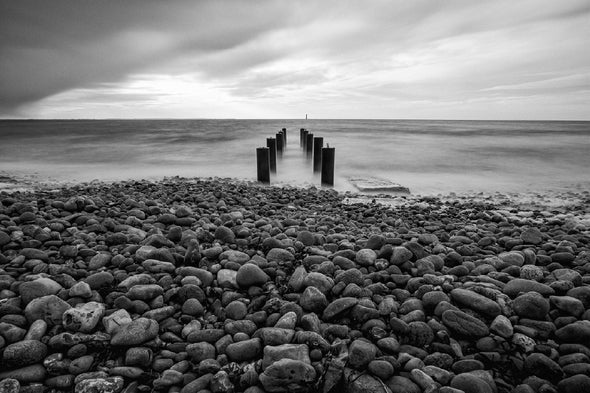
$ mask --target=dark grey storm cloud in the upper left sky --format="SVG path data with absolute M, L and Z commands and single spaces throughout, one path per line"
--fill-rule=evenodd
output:
M 247 3 L 2 0 L 0 105 L 117 81 L 188 53 L 227 50 L 285 20 L 277 3 Z

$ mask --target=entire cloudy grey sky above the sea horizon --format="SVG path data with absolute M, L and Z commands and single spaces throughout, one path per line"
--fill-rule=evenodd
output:
M 589 0 L 0 0 L 0 118 L 590 120 Z

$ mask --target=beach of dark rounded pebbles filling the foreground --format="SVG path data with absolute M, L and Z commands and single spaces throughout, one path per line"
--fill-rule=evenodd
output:
M 590 391 L 590 193 L 0 193 L 0 392 Z

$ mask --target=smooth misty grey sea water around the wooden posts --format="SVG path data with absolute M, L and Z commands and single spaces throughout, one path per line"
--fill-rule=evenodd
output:
M 287 128 L 274 184 L 320 185 L 299 129 L 336 149 L 335 188 L 379 177 L 412 193 L 590 190 L 590 122 L 443 120 L 0 121 L 0 174 L 40 181 L 256 179 L 256 147 Z

